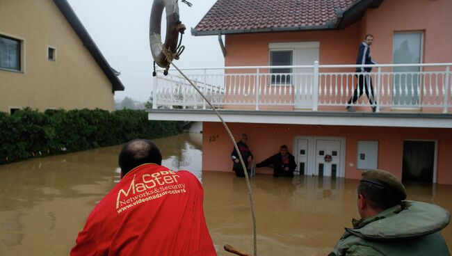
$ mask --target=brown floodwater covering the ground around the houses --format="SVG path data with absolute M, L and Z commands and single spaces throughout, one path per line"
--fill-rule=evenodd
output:
M 202 172 L 200 134 L 154 140 L 163 165 L 202 180 L 204 211 L 218 255 L 230 243 L 252 253 L 245 180 Z M 0 255 L 68 255 L 86 217 L 119 180 L 120 146 L 0 166 Z M 356 180 L 318 177 L 252 179 L 258 255 L 327 255 L 357 218 Z M 408 199 L 452 211 L 452 186 L 406 184 Z M 442 231 L 449 250 L 452 225 Z

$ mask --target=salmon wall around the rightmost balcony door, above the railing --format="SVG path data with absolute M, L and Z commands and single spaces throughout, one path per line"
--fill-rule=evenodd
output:
M 394 32 L 423 32 L 423 63 L 452 61 L 452 1 L 392 0 L 369 9 L 362 19 L 360 38 L 375 35 L 372 57 L 378 63 L 393 63 Z

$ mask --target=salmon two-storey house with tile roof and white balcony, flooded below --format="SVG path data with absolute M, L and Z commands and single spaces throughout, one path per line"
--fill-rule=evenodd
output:
M 447 0 L 218 0 L 191 33 L 217 36 L 225 67 L 182 70 L 236 140 L 248 134 L 255 163 L 285 144 L 300 175 L 381 168 L 452 184 L 449 10 Z M 378 64 L 356 65 L 369 33 Z M 364 93 L 349 112 L 361 67 L 372 67 L 376 104 Z M 202 122 L 202 170 L 232 170 L 227 131 L 183 77 L 158 72 L 153 99 L 150 120 Z

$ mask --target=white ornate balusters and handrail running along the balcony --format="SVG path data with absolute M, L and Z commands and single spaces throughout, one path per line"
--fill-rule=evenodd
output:
M 357 88 L 356 67 L 373 67 L 377 111 L 447 113 L 452 108 L 452 63 L 302 65 L 184 69 L 218 109 L 344 110 Z M 289 69 L 278 73 L 277 69 Z M 363 96 L 354 106 L 367 106 Z M 207 104 L 176 70 L 154 79 L 153 108 L 206 109 Z M 370 109 L 370 108 L 369 108 Z

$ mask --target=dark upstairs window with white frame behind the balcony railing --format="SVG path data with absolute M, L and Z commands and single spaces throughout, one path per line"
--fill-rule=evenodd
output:
M 271 66 L 291 66 L 293 65 L 292 50 L 271 50 L 270 51 Z M 290 67 L 272 68 L 271 84 L 290 84 L 292 77 L 292 69 Z

